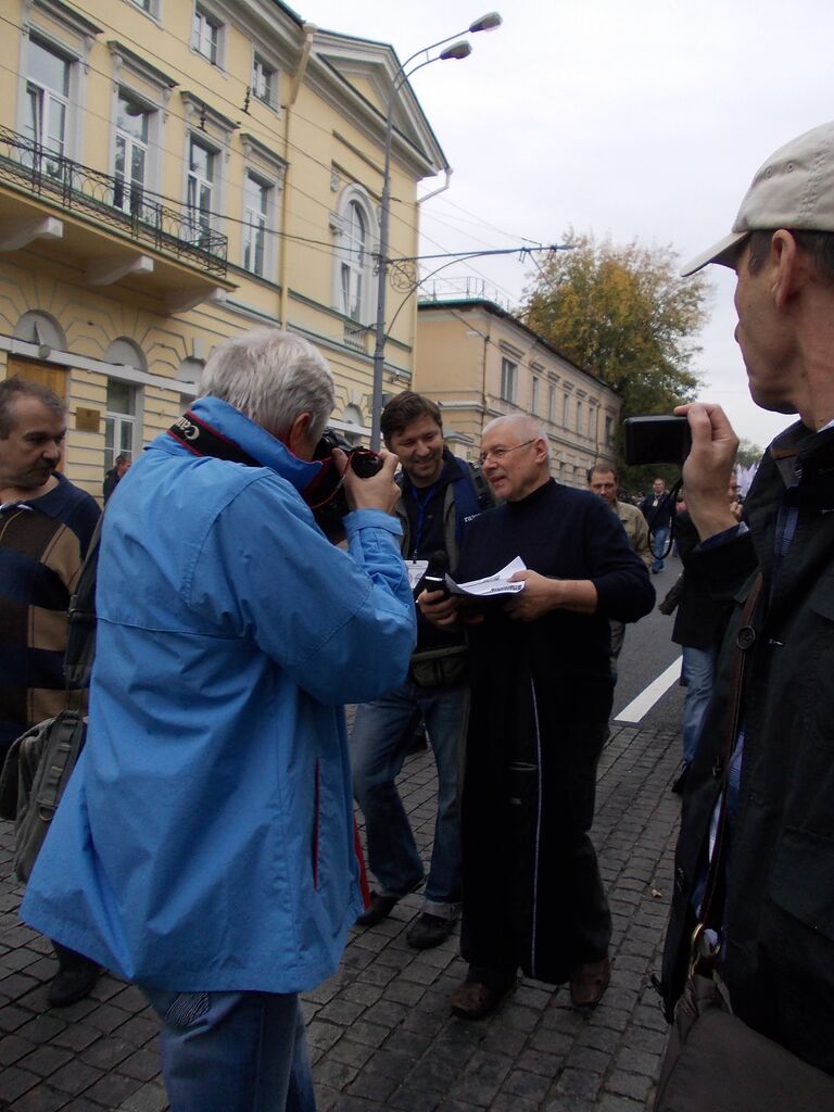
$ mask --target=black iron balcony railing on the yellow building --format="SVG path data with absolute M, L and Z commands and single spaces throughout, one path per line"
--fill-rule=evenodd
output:
M 226 277 L 227 237 L 205 214 L 160 205 L 136 182 L 101 173 L 26 136 L 0 127 L 0 180 L 83 212 L 140 244 L 173 255 L 217 278 Z

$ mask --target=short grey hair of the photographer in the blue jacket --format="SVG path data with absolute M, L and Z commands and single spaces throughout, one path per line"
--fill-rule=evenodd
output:
M 202 373 L 203 395 L 221 398 L 280 439 L 299 414 L 311 416 L 318 438 L 332 413 L 332 371 L 312 344 L 279 328 L 258 328 L 225 340 Z

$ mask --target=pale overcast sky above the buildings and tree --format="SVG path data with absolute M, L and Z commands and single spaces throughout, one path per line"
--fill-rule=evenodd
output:
M 310 22 L 394 46 L 400 60 L 466 28 L 477 0 L 309 0 Z M 413 87 L 454 168 L 423 209 L 423 251 L 558 241 L 577 231 L 669 245 L 686 261 L 729 231 L 773 150 L 834 117 L 832 0 L 504 0 L 504 26 Z M 440 182 L 424 186 L 424 191 Z M 530 264 L 480 259 L 517 304 Z M 793 418 L 749 400 L 733 340 L 733 276 L 709 267 L 704 399 L 766 445 Z

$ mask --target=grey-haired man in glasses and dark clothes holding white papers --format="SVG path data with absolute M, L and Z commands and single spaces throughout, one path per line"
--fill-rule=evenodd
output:
M 492 1011 L 519 966 L 538 981 L 569 981 L 577 1006 L 596 1004 L 608 985 L 610 914 L 588 836 L 614 687 L 608 620 L 635 622 L 654 603 L 617 517 L 596 495 L 549 477 L 547 440 L 533 418 L 487 425 L 480 458 L 504 505 L 471 523 L 458 580 L 517 556 L 527 569 L 515 575 L 524 588 L 509 603 L 490 600 L 466 625 L 461 953 L 469 971 L 451 996 L 466 1019 Z M 419 602 L 438 625 L 456 622 L 454 597 Z

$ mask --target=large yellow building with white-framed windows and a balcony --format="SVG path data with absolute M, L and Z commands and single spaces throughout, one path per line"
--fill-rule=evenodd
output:
M 68 477 L 100 495 L 260 325 L 320 347 L 334 424 L 367 436 L 393 49 L 277 0 L 7 0 L 0 23 L 0 377 L 67 400 Z M 415 256 L 417 182 L 448 167 L 407 85 L 393 156 L 390 254 Z

